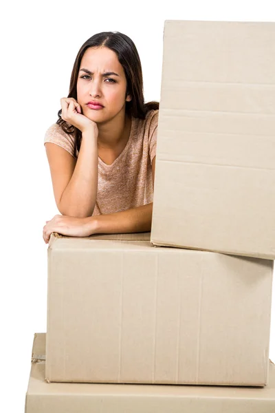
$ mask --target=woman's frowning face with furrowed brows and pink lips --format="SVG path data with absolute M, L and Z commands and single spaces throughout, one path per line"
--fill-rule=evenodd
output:
M 107 74 L 113 72 L 113 74 Z M 118 57 L 108 47 L 89 47 L 80 62 L 76 85 L 77 101 L 83 114 L 95 122 L 104 122 L 125 111 L 126 77 Z M 94 100 L 103 108 L 91 109 L 87 103 Z

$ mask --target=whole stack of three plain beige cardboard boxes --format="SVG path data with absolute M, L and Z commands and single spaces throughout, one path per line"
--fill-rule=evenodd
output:
M 152 231 L 51 235 L 26 413 L 275 412 L 274 56 L 275 23 L 165 21 Z

